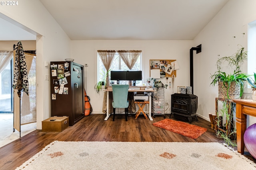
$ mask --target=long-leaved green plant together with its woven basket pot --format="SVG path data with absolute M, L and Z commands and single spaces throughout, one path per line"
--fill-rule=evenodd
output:
M 218 70 L 214 74 L 211 74 L 210 78 L 212 78 L 212 82 L 210 85 L 215 86 L 218 82 L 219 98 L 241 98 L 244 92 L 244 82 L 247 80 L 248 75 L 242 73 L 240 66 L 246 59 L 247 52 L 244 52 L 244 48 L 241 47 L 234 55 L 222 57 L 217 60 L 216 65 Z M 231 74 L 221 71 L 221 66 L 224 62 L 227 62 L 230 68 L 234 68 Z

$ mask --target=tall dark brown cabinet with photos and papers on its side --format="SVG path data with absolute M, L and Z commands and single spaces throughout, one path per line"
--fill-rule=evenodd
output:
M 84 66 L 50 62 L 51 116 L 68 116 L 73 126 L 84 117 Z

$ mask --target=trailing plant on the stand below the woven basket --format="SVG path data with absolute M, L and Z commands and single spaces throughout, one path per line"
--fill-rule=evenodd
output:
M 236 137 L 236 128 L 233 123 L 233 114 L 229 114 L 229 109 L 233 109 L 232 104 L 227 101 L 222 101 L 222 109 L 220 111 L 216 111 L 216 125 L 219 127 L 216 131 L 216 136 L 224 139 L 227 145 L 236 146 L 236 143 L 232 141 L 232 137 Z M 232 110 L 233 112 L 233 110 Z M 221 129 L 222 122 L 224 121 L 224 116 L 226 117 L 225 127 Z M 234 139 L 235 140 L 235 139 Z

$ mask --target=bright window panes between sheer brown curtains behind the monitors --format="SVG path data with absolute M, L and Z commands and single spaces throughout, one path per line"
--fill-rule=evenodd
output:
M 142 61 L 142 53 L 138 57 L 136 64 L 134 65 L 132 70 L 142 70 L 141 62 Z M 121 57 L 116 53 L 114 60 L 110 66 L 110 70 L 122 70 L 122 71 L 128 71 L 129 68 L 126 66 L 124 61 L 122 61 Z M 110 72 L 109 72 L 110 74 Z M 104 67 L 99 55 L 98 55 L 98 81 L 104 80 L 106 77 L 106 68 Z M 116 84 L 116 80 L 112 80 Z M 128 84 L 128 81 L 122 80 L 120 81 L 120 84 Z M 141 86 L 142 81 L 136 81 L 136 86 Z

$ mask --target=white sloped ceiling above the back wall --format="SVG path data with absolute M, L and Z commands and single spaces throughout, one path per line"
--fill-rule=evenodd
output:
M 228 2 L 228 0 L 40 1 L 71 40 L 191 40 Z

